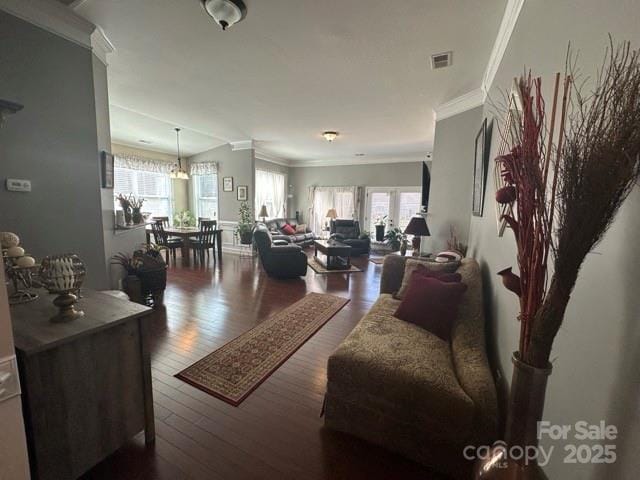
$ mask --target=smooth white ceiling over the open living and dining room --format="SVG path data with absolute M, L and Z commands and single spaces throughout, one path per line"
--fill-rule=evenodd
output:
M 76 2 L 116 48 L 114 142 L 175 153 L 180 126 L 187 155 L 249 139 L 315 163 L 424 154 L 433 109 L 480 86 L 506 0 L 245 3 L 222 32 L 199 0 Z M 453 65 L 431 70 L 449 50 Z

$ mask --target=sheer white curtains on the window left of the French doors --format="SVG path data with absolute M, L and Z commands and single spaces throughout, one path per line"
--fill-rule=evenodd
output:
M 358 219 L 360 187 L 309 187 L 309 218 L 311 228 L 318 235 L 329 221 L 327 212 L 335 208 L 338 218 Z

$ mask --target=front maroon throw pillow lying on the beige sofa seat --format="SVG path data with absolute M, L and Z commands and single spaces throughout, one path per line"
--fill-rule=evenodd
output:
M 464 283 L 445 283 L 436 278 L 414 275 L 394 316 L 448 342 L 466 289 Z

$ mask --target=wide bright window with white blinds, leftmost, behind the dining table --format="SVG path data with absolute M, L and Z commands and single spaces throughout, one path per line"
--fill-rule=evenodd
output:
M 166 173 L 147 172 L 129 168 L 114 167 L 114 202 L 115 208 L 120 204 L 115 197 L 119 194 L 133 194 L 144 198 L 143 212 L 154 216 L 171 217 L 171 180 Z

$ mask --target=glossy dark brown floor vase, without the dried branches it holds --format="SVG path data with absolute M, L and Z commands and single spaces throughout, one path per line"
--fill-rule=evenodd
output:
M 476 464 L 475 480 L 547 479 L 535 459 L 528 460 L 526 455 L 520 456 L 518 453 L 538 447 L 538 422 L 542 419 L 551 364 L 547 368 L 532 367 L 520 360 L 518 352 L 513 354 L 511 360 L 513 377 L 505 432 L 506 445 L 494 447 L 488 458 Z M 508 452 L 516 455 L 510 456 Z

